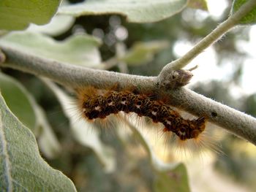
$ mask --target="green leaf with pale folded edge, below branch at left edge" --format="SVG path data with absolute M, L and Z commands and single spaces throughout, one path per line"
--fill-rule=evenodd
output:
M 47 158 L 59 155 L 61 147 L 42 109 L 20 82 L 0 72 L 0 91 L 16 117 L 38 137 L 39 147 Z M 42 130 L 39 133 L 39 128 Z

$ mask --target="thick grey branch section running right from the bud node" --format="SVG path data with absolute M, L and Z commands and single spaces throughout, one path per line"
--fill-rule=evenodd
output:
M 176 106 L 193 115 L 206 116 L 210 122 L 256 145 L 256 118 L 187 88 L 173 90 L 169 96 Z

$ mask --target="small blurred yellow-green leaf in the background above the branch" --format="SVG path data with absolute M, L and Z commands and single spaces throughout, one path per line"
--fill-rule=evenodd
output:
M 124 61 L 127 64 L 145 64 L 154 58 L 154 54 L 165 49 L 169 43 L 167 41 L 154 42 L 138 42 L 135 43 L 119 61 Z

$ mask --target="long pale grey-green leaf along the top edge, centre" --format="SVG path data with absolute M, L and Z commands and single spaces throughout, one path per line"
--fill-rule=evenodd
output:
M 147 23 L 163 20 L 181 12 L 187 0 L 87 0 L 83 3 L 60 7 L 59 13 L 81 15 L 120 14 L 129 22 Z

